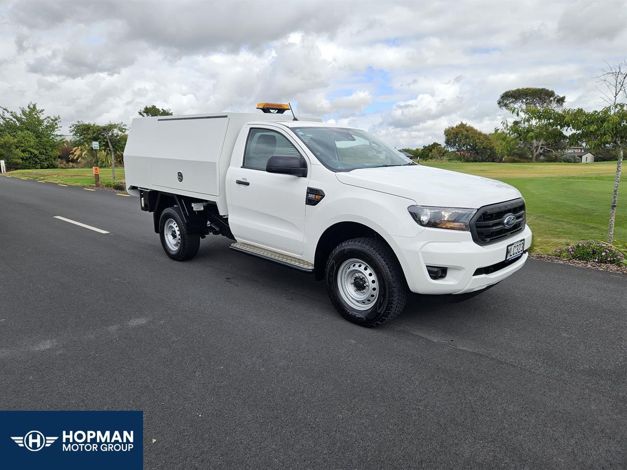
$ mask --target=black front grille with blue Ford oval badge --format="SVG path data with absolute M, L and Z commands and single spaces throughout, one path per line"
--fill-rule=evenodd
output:
M 505 227 L 503 221 L 510 214 L 516 216 L 516 223 L 512 227 Z M 475 243 L 489 245 L 522 232 L 525 228 L 525 200 L 490 204 L 480 207 L 477 214 L 470 220 L 470 233 Z

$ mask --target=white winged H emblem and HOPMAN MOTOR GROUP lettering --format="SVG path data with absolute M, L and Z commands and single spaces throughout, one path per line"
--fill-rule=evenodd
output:
M 128 452 L 133 449 L 133 431 L 63 431 L 63 452 Z M 58 436 L 44 436 L 39 431 L 27 432 L 25 436 L 11 436 L 19 447 L 29 451 L 41 451 L 50 447 Z

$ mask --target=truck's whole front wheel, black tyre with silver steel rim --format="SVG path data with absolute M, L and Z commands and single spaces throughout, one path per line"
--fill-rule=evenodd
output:
M 396 317 L 407 301 L 407 283 L 393 251 L 377 238 L 340 243 L 327 260 L 327 290 L 346 320 L 378 326 Z

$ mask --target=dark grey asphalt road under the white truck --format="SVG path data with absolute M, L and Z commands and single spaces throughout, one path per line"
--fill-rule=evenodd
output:
M 366 329 L 226 238 L 171 261 L 135 197 L 0 177 L 0 232 L 0 408 L 144 410 L 147 469 L 627 467 L 623 274 Z

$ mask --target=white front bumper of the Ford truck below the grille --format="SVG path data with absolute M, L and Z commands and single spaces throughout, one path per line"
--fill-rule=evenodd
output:
M 505 240 L 480 246 L 472 240 L 470 232 L 427 228 L 412 238 L 389 236 L 405 273 L 409 290 L 420 294 L 461 294 L 487 288 L 514 274 L 527 261 L 527 253 L 507 266 L 490 274 L 478 274 L 485 268 L 505 260 L 507 245 L 525 240 L 525 250 L 531 245 L 531 231 L 524 231 Z M 447 268 L 446 277 L 434 280 L 426 266 Z

